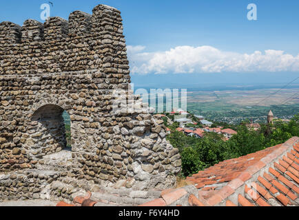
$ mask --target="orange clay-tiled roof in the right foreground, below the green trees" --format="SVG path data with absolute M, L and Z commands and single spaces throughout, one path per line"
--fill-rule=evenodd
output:
M 207 168 L 186 181 L 198 188 L 189 206 L 299 206 L 299 137 Z M 165 190 L 182 197 L 179 189 Z M 160 201 L 160 200 L 159 200 Z M 163 206 L 170 203 L 163 201 Z M 181 202 L 181 201 L 180 201 Z M 154 203 L 156 206 L 158 200 Z M 147 206 L 151 206 L 148 203 Z

